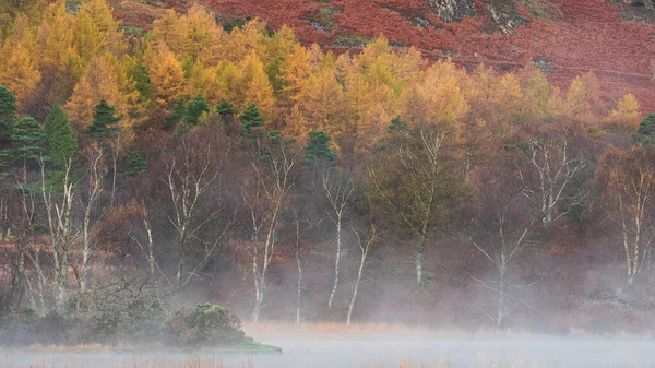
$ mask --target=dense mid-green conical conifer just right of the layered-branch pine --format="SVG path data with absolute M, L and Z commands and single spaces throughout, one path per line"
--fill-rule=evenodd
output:
M 59 170 L 66 168 L 68 162 L 74 161 L 78 155 L 78 138 L 61 106 L 52 106 L 43 130 L 55 168 Z

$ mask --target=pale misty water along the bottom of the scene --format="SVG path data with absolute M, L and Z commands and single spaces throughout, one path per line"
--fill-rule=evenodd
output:
M 167 352 L 2 352 L 0 365 L 28 367 L 397 367 L 448 363 L 450 367 L 655 367 L 655 341 L 599 339 L 272 339 L 282 354 Z

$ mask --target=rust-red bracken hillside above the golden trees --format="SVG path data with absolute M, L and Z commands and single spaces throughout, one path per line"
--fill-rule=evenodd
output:
M 430 8 L 430 2 L 439 2 L 436 0 L 199 1 L 221 17 L 257 16 L 273 28 L 286 24 L 305 43 L 340 50 L 356 48 L 383 34 L 398 47 L 416 46 L 433 57 L 453 56 L 454 61 L 467 67 L 485 62 L 507 70 L 539 61 L 550 80 L 562 88 L 568 88 L 575 75 L 594 71 L 608 106 L 631 92 L 643 112 L 655 111 L 655 25 L 648 24 L 655 12 L 639 1 L 533 0 L 527 3 L 537 5 L 531 11 L 511 0 L 476 0 L 472 1 L 474 16 L 451 23 L 443 22 Z M 183 0 L 165 2 L 179 11 L 189 7 Z M 490 4 L 511 5 L 526 25 L 499 32 Z M 139 11 L 156 12 L 129 1 L 117 1 L 116 5 L 126 25 L 147 27 L 143 24 L 147 16 Z

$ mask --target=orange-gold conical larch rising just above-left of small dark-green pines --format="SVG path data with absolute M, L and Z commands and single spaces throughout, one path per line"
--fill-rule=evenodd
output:
M 162 48 L 151 67 L 151 81 L 155 86 L 155 100 L 168 107 L 184 92 L 184 71 L 175 55 Z

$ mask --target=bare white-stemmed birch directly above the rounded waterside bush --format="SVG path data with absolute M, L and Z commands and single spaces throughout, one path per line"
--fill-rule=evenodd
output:
M 163 180 L 171 207 L 168 221 L 177 238 L 178 292 L 199 276 L 234 221 L 223 192 L 227 179 L 221 175 L 230 151 L 229 142 L 198 130 L 182 138 L 165 163 Z

